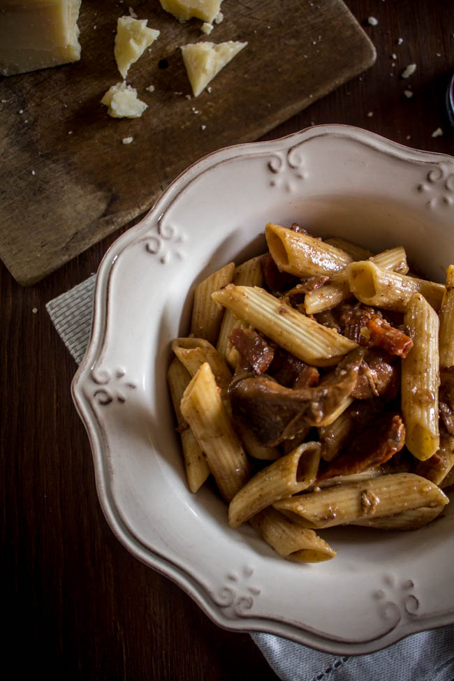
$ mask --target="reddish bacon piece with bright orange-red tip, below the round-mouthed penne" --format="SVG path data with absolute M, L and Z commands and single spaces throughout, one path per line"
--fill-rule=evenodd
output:
M 364 305 L 344 305 L 339 323 L 347 338 L 369 348 L 379 347 L 390 355 L 407 357 L 413 347 L 411 338 L 383 319 L 381 312 Z

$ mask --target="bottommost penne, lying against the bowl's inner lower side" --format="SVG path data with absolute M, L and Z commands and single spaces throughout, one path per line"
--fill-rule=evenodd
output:
M 336 552 L 313 529 L 299 527 L 274 508 L 265 508 L 249 520 L 262 539 L 280 556 L 298 563 L 319 563 Z

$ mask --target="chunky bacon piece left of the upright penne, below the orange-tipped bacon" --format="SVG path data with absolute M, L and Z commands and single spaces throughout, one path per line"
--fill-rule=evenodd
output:
M 400 388 L 400 366 L 379 348 L 368 350 L 358 372 L 358 381 L 351 392 L 357 400 L 382 397 L 393 400 Z

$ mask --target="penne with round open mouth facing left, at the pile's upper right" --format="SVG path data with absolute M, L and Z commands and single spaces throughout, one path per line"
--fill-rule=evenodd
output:
M 346 270 L 350 290 L 358 300 L 366 305 L 376 305 L 396 312 L 405 312 L 413 293 L 422 293 L 427 302 L 438 310 L 446 290 L 444 284 L 391 272 L 369 260 L 351 263 Z

